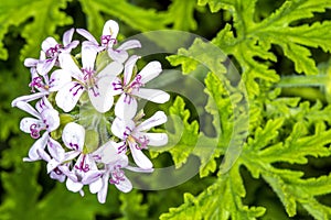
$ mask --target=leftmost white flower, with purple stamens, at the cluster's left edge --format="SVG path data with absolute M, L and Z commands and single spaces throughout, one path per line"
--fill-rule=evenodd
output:
M 35 109 L 24 102 L 17 102 L 17 107 L 32 114 L 34 118 L 23 118 L 20 122 L 20 129 L 30 133 L 33 139 L 38 139 L 29 151 L 29 157 L 24 161 L 38 161 L 42 157 L 39 154 L 39 151 L 43 151 L 50 139 L 50 132 L 56 130 L 60 127 L 60 117 L 58 112 L 53 109 L 50 101 L 43 97 L 40 101 L 36 102 Z M 45 131 L 41 136 L 41 132 Z

